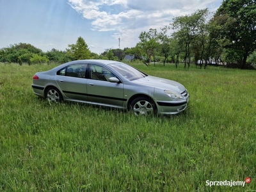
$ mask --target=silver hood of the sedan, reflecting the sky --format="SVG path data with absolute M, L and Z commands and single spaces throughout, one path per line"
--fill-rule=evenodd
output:
M 186 88 L 178 83 L 177 81 L 172 81 L 169 79 L 163 79 L 160 77 L 154 77 L 154 76 L 147 76 L 141 79 L 136 79 L 132 81 L 133 83 L 138 83 L 138 84 L 144 84 L 147 86 L 154 86 L 156 88 L 162 88 L 163 90 L 173 90 L 178 93 L 184 92 Z

